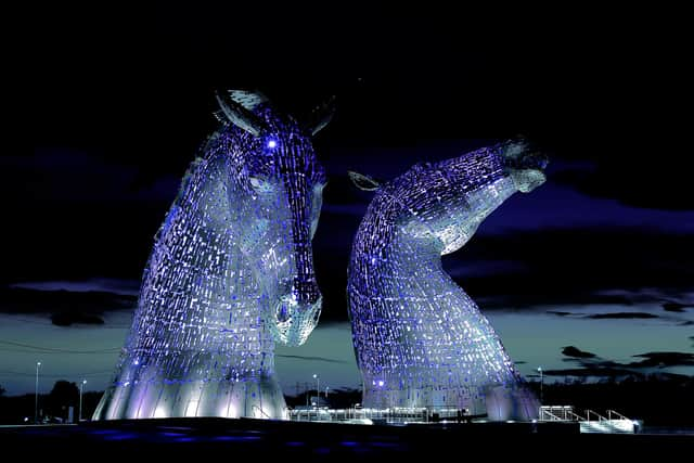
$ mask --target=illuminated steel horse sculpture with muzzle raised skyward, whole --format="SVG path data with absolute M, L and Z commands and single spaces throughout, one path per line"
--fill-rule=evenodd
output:
M 528 420 L 537 399 L 475 303 L 441 267 L 513 193 L 544 182 L 547 158 L 524 142 L 416 165 L 380 185 L 355 239 L 348 272 L 363 406 L 465 410 Z

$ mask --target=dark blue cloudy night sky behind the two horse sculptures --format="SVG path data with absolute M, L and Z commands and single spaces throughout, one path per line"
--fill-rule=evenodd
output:
M 314 370 L 358 385 L 346 269 L 371 193 L 347 170 L 388 180 L 515 136 L 550 156 L 548 182 L 444 260 L 522 371 L 694 374 L 694 76 L 678 20 L 233 3 L 61 4 L 37 18 L 34 151 L 0 158 L 10 394 L 33 391 L 39 357 L 49 378 L 92 375 L 103 388 L 154 233 L 218 124 L 217 88 L 259 89 L 299 118 L 336 95 L 314 139 L 329 176 L 313 242 L 322 324 L 306 346 L 280 349 L 285 386 Z M 562 353 L 569 345 L 597 359 Z

